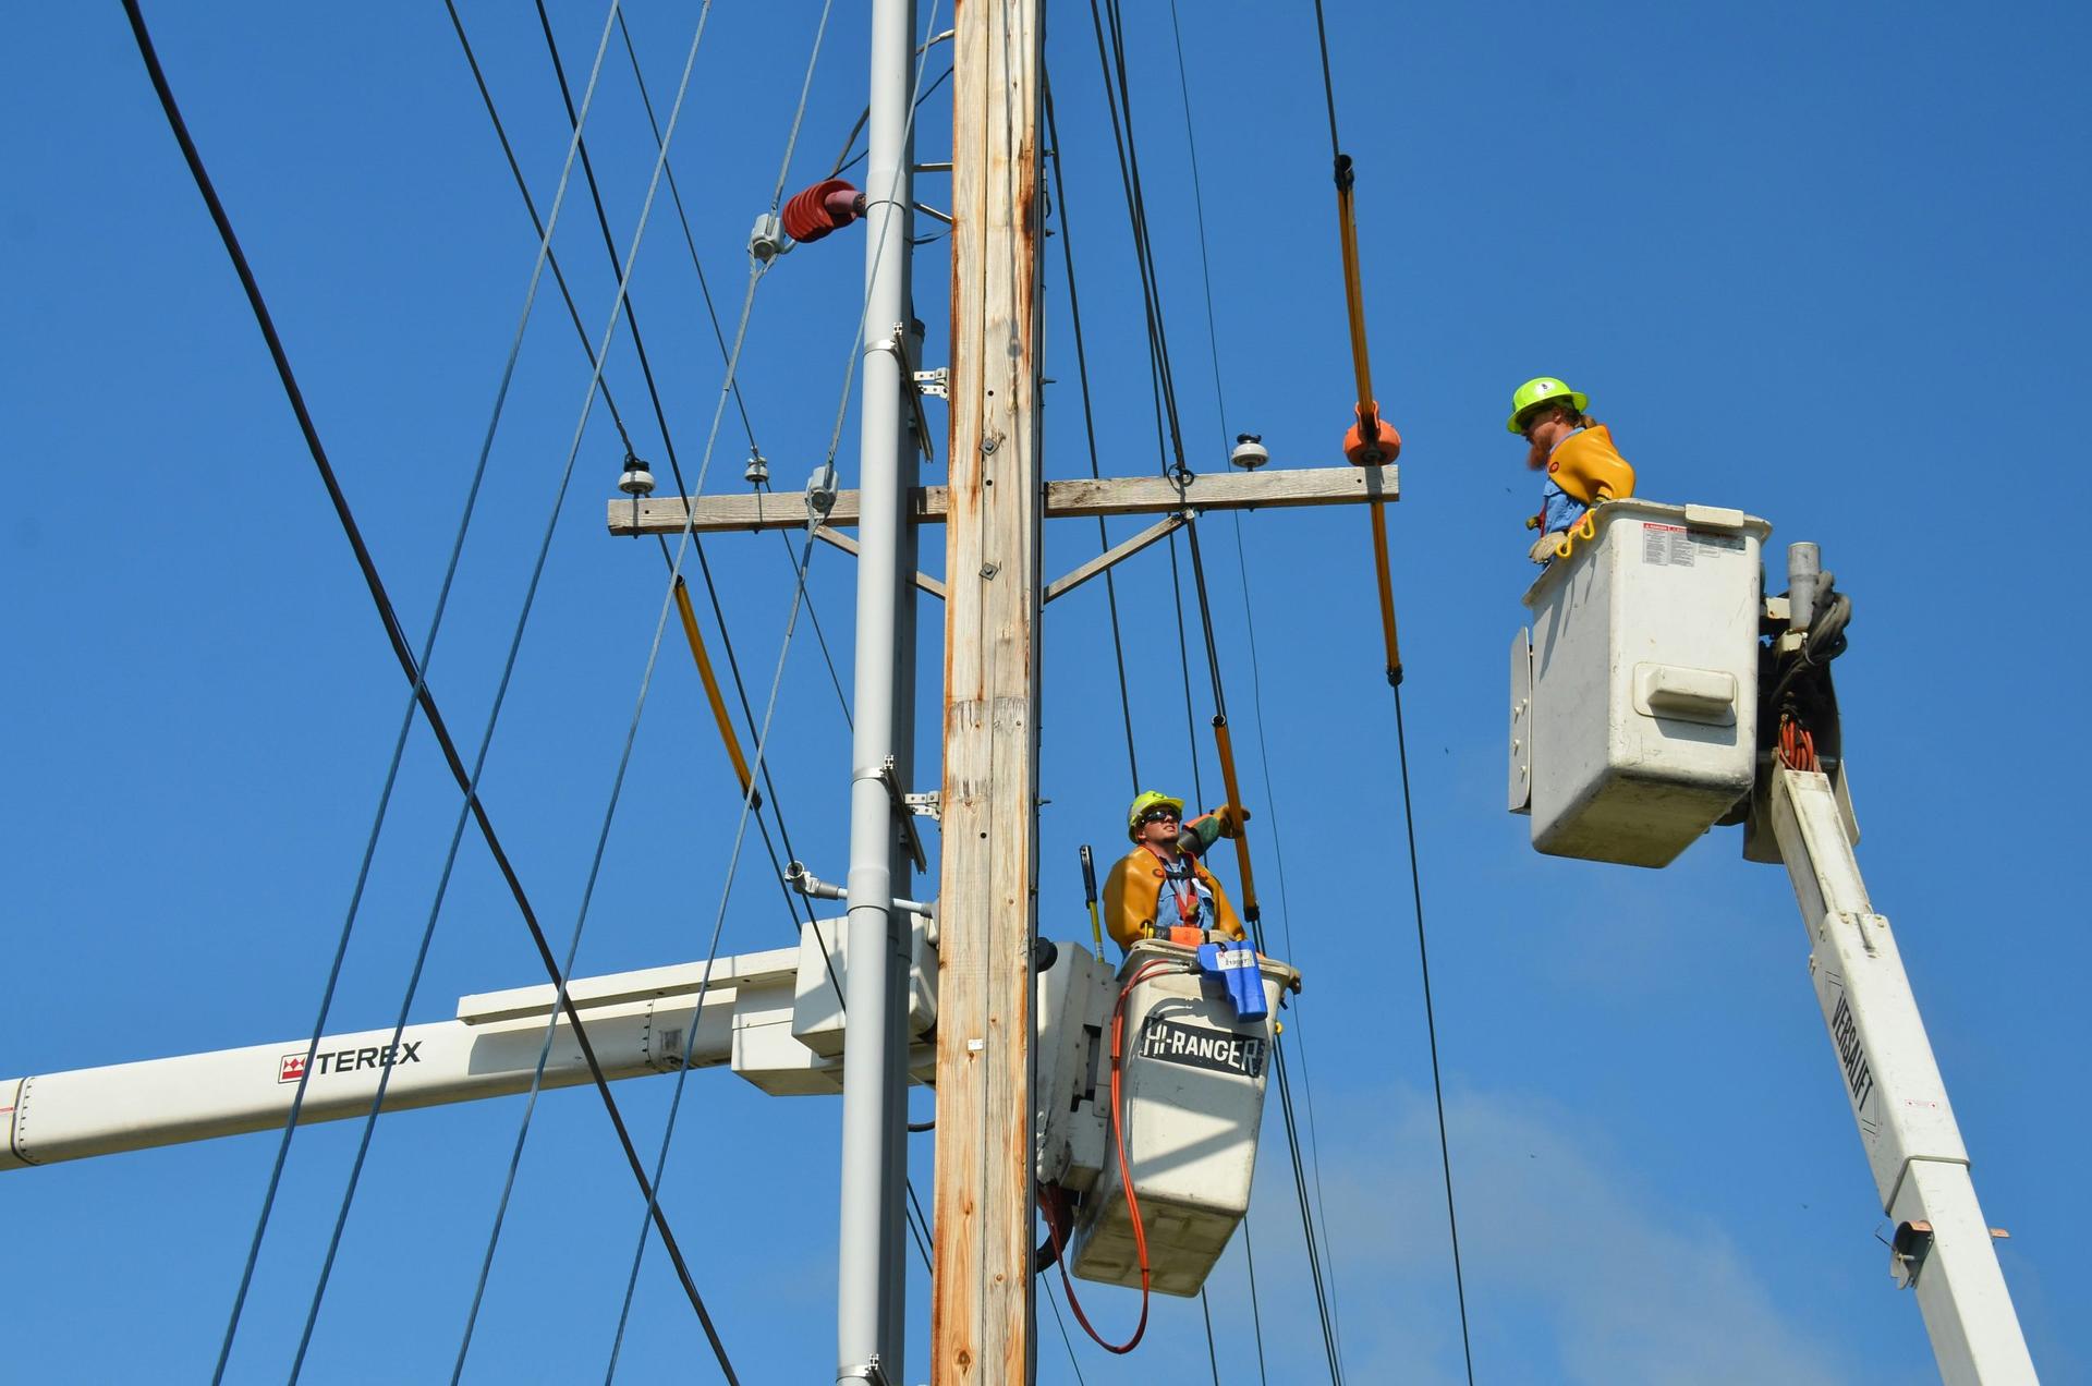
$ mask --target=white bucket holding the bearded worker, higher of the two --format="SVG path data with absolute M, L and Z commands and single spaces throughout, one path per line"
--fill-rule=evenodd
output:
M 1592 521 L 1525 593 L 1510 810 L 1552 856 L 1665 867 L 1751 791 L 1772 526 L 1638 498 Z

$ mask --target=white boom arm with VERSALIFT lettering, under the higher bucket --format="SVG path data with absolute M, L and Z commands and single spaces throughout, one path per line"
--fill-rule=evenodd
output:
M 1772 829 L 1810 930 L 1816 1001 L 1895 1221 L 1895 1281 L 1916 1288 L 1948 1386 L 2036 1382 L 1904 959 L 1866 898 L 1830 781 L 1778 764 L 1772 775 Z

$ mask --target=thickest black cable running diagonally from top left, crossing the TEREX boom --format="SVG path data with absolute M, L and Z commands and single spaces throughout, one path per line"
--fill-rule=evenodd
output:
M 305 408 L 305 394 L 297 385 L 297 375 L 291 371 L 291 358 L 285 352 L 282 337 L 276 333 L 276 320 L 270 316 L 268 304 L 262 297 L 262 287 L 253 276 L 253 268 L 247 264 L 247 253 L 241 249 L 241 241 L 232 230 L 232 220 L 226 216 L 224 203 L 218 199 L 218 188 L 211 184 L 209 172 L 203 167 L 203 155 L 197 151 L 197 142 L 188 134 L 188 124 L 182 119 L 182 111 L 174 100 L 174 90 L 167 86 L 167 73 L 159 65 L 159 54 L 153 48 L 153 36 L 146 31 L 144 15 L 138 8 L 138 0 L 123 0 L 123 13 L 130 19 L 132 36 L 138 42 L 138 54 L 144 59 L 146 73 L 153 80 L 153 90 L 159 94 L 161 111 L 167 117 L 167 126 L 174 132 L 176 142 L 182 147 L 182 159 L 188 163 L 188 172 L 197 182 L 197 191 L 203 195 L 209 207 L 211 222 L 218 226 L 218 237 L 224 241 L 226 255 L 232 260 L 232 268 L 238 274 L 241 289 L 247 293 L 247 304 L 253 310 L 255 325 L 262 329 L 262 337 L 268 343 L 270 360 L 276 366 L 276 377 L 282 383 L 285 398 L 291 404 L 291 412 L 297 415 L 299 431 L 305 435 L 305 448 L 312 452 L 314 467 L 320 471 L 320 482 L 326 488 L 326 496 L 335 507 L 335 517 L 341 521 L 343 534 L 349 540 L 349 549 L 356 553 L 356 565 L 364 576 L 364 586 L 370 588 L 370 599 L 377 603 L 379 620 L 385 626 L 385 636 L 393 647 L 393 657 L 400 662 L 400 670 L 406 674 L 408 683 L 414 687 L 414 699 L 429 720 L 429 731 L 435 733 L 437 745 L 444 752 L 444 760 L 450 764 L 452 777 L 458 781 L 460 789 L 467 791 L 473 819 L 479 825 L 479 833 L 487 844 L 494 865 L 500 869 L 502 879 L 508 884 L 508 892 L 515 896 L 517 907 L 523 913 L 523 921 L 529 925 L 531 942 L 538 946 L 538 955 L 550 969 L 554 984 L 559 982 L 559 961 L 552 957 L 552 946 L 538 923 L 536 911 L 529 907 L 529 898 L 523 892 L 523 881 L 515 873 L 515 865 L 500 846 L 500 837 L 494 833 L 494 823 L 487 817 L 485 804 L 471 787 L 471 775 L 464 768 L 464 760 L 458 756 L 458 747 L 450 737 L 450 729 L 444 724 L 444 714 L 435 706 L 435 695 L 429 691 L 427 680 L 420 672 L 418 660 L 406 641 L 406 630 L 400 626 L 400 616 L 385 590 L 385 582 L 379 576 L 377 561 L 370 557 L 370 549 L 364 544 L 362 528 L 356 523 L 356 515 L 349 509 L 349 500 L 341 490 L 341 482 L 335 477 L 335 467 L 326 456 L 326 446 L 320 442 L 320 431 L 312 421 L 312 410 Z M 644 1166 L 638 1162 L 638 1149 L 632 1145 L 632 1137 L 626 1131 L 623 1116 L 617 1112 L 617 1101 L 611 1097 L 609 1082 L 602 1076 L 602 1066 L 596 1061 L 594 1047 L 588 1041 L 588 1030 L 582 1026 L 579 1011 L 567 1003 L 567 1022 L 573 1028 L 575 1041 L 582 1047 L 582 1057 L 588 1064 L 588 1072 L 596 1080 L 596 1089 L 602 1095 L 605 1112 L 611 1124 L 617 1128 L 617 1139 L 621 1141 L 628 1160 L 632 1162 L 632 1172 L 640 1181 L 642 1189 L 649 1187 Z M 649 1195 L 651 1200 L 651 1195 Z M 674 1242 L 674 1231 L 667 1225 L 667 1216 L 661 1214 L 659 1204 L 655 1204 L 655 1227 L 661 1233 L 663 1248 L 676 1265 L 676 1273 L 682 1279 L 684 1294 L 690 1306 L 697 1311 L 699 1321 L 705 1325 L 707 1338 L 713 1342 L 722 1365 L 726 1361 L 726 1348 L 718 1340 L 718 1332 L 711 1325 L 711 1315 L 705 1311 L 705 1300 L 697 1290 L 697 1281 L 690 1279 L 690 1269 L 682 1258 L 680 1246 Z M 228 1340 L 230 1346 L 230 1340 Z M 224 1371 L 224 1361 L 220 1361 L 220 1376 Z

